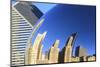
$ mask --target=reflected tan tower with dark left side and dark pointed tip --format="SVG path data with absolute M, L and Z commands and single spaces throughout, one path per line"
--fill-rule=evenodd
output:
M 66 43 L 66 46 L 62 49 L 59 56 L 59 62 L 71 62 L 72 47 L 75 40 L 76 33 L 72 34 Z

